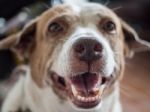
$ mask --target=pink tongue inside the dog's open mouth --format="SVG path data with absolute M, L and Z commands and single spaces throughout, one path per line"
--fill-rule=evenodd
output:
M 71 77 L 72 84 L 78 91 L 89 92 L 98 84 L 101 83 L 100 77 L 97 74 L 84 73 Z

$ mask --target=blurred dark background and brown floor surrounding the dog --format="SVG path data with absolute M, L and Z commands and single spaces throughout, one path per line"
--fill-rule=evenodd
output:
M 0 40 L 16 33 L 31 19 L 50 8 L 57 0 L 0 0 Z M 61 2 L 61 0 L 58 0 Z M 150 0 L 89 0 L 113 9 L 127 21 L 141 38 L 150 42 Z M 20 62 L 9 51 L 0 51 L 0 83 L 8 85 L 0 91 L 7 91 L 12 81 L 11 71 Z M 4 98 L 0 92 L 0 100 Z M 137 53 L 134 59 L 127 59 L 126 72 L 121 83 L 121 99 L 124 112 L 150 111 L 150 52 Z M 1 102 L 1 101 L 0 101 Z M 1 104 L 1 103 L 0 103 Z

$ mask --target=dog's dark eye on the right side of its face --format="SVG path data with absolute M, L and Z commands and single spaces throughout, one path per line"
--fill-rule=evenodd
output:
M 116 25 L 112 21 L 105 22 L 102 28 L 104 31 L 106 31 L 108 33 L 115 33 L 115 31 L 116 31 Z

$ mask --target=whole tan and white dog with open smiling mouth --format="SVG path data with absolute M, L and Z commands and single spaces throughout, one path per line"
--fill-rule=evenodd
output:
M 56 5 L 0 42 L 28 62 L 2 112 L 122 112 L 125 58 L 149 47 L 106 6 Z

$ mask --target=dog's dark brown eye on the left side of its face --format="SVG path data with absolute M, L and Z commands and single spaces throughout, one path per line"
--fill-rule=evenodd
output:
M 49 32 L 59 33 L 63 31 L 63 26 L 57 22 L 53 22 L 48 27 Z

